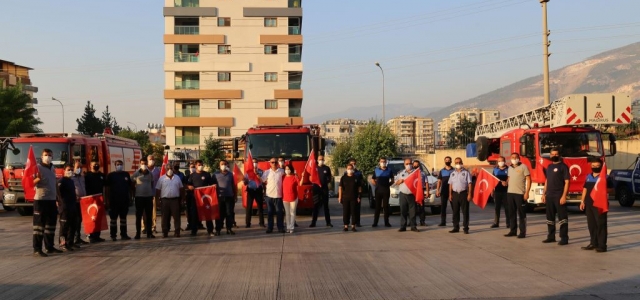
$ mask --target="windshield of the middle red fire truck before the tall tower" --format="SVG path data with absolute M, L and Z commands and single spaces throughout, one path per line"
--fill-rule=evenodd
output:
M 309 134 L 304 133 L 269 133 L 252 134 L 247 144 L 253 158 L 269 159 L 282 156 L 285 159 L 307 159 L 311 150 Z

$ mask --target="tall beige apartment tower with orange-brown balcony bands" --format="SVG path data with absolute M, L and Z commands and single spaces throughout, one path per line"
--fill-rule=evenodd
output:
M 301 0 L 165 0 L 167 145 L 303 124 Z

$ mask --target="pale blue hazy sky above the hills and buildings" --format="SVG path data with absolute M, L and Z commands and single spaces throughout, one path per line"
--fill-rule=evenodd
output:
M 241 0 L 237 0 L 241 1 Z M 121 126 L 164 118 L 160 0 L 3 0 L 0 59 L 33 68 L 45 132 L 90 100 Z M 539 0 L 305 0 L 303 117 L 382 102 L 442 107 L 542 73 Z M 551 69 L 640 41 L 640 1 L 551 0 Z M 540 92 L 542 94 L 542 91 Z M 371 116 L 376 117 L 376 116 Z

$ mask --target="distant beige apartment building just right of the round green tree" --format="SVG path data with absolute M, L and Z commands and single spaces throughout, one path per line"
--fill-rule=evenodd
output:
M 400 116 L 387 121 L 387 126 L 398 137 L 398 147 L 404 152 L 426 153 L 434 148 L 433 119 Z

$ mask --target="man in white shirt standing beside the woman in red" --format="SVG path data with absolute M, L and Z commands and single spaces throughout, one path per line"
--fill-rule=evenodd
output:
M 271 168 L 262 174 L 262 183 L 265 186 L 264 200 L 267 202 L 267 233 L 273 232 L 273 214 L 276 214 L 278 232 L 284 233 L 284 204 L 282 203 L 282 179 L 283 169 L 278 168 L 277 160 L 272 157 L 269 160 Z

